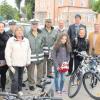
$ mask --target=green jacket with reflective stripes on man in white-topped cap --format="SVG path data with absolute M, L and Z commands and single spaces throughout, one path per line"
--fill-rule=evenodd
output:
M 32 31 L 26 36 L 30 42 L 32 62 L 40 62 L 44 59 L 43 46 L 45 45 L 45 38 L 41 30 L 37 32 L 37 37 L 32 34 Z

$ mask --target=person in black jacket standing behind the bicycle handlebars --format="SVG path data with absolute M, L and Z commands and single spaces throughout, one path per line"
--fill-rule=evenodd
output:
M 79 52 L 89 50 L 88 41 L 86 40 L 86 31 L 84 27 L 80 27 L 78 38 L 72 41 L 72 50 L 77 50 Z M 80 62 L 82 61 L 82 57 L 78 56 L 77 53 L 73 52 L 74 54 L 74 62 L 75 62 L 75 69 L 79 66 Z

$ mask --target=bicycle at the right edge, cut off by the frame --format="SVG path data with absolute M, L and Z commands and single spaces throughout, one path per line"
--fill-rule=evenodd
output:
M 100 100 L 100 57 L 91 61 L 89 72 L 83 76 L 83 85 L 90 97 Z

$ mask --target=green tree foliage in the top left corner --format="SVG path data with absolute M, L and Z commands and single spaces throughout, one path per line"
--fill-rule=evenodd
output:
M 18 15 L 18 11 L 15 8 L 12 8 L 12 6 L 8 5 L 6 1 L 0 5 L 0 16 L 2 16 L 4 19 L 9 20 L 9 19 L 14 19 Z

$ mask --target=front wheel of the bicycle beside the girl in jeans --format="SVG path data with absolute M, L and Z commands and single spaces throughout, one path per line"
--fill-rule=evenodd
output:
M 71 76 L 68 85 L 68 96 L 70 98 L 77 95 L 82 84 L 82 73 L 77 69 Z

